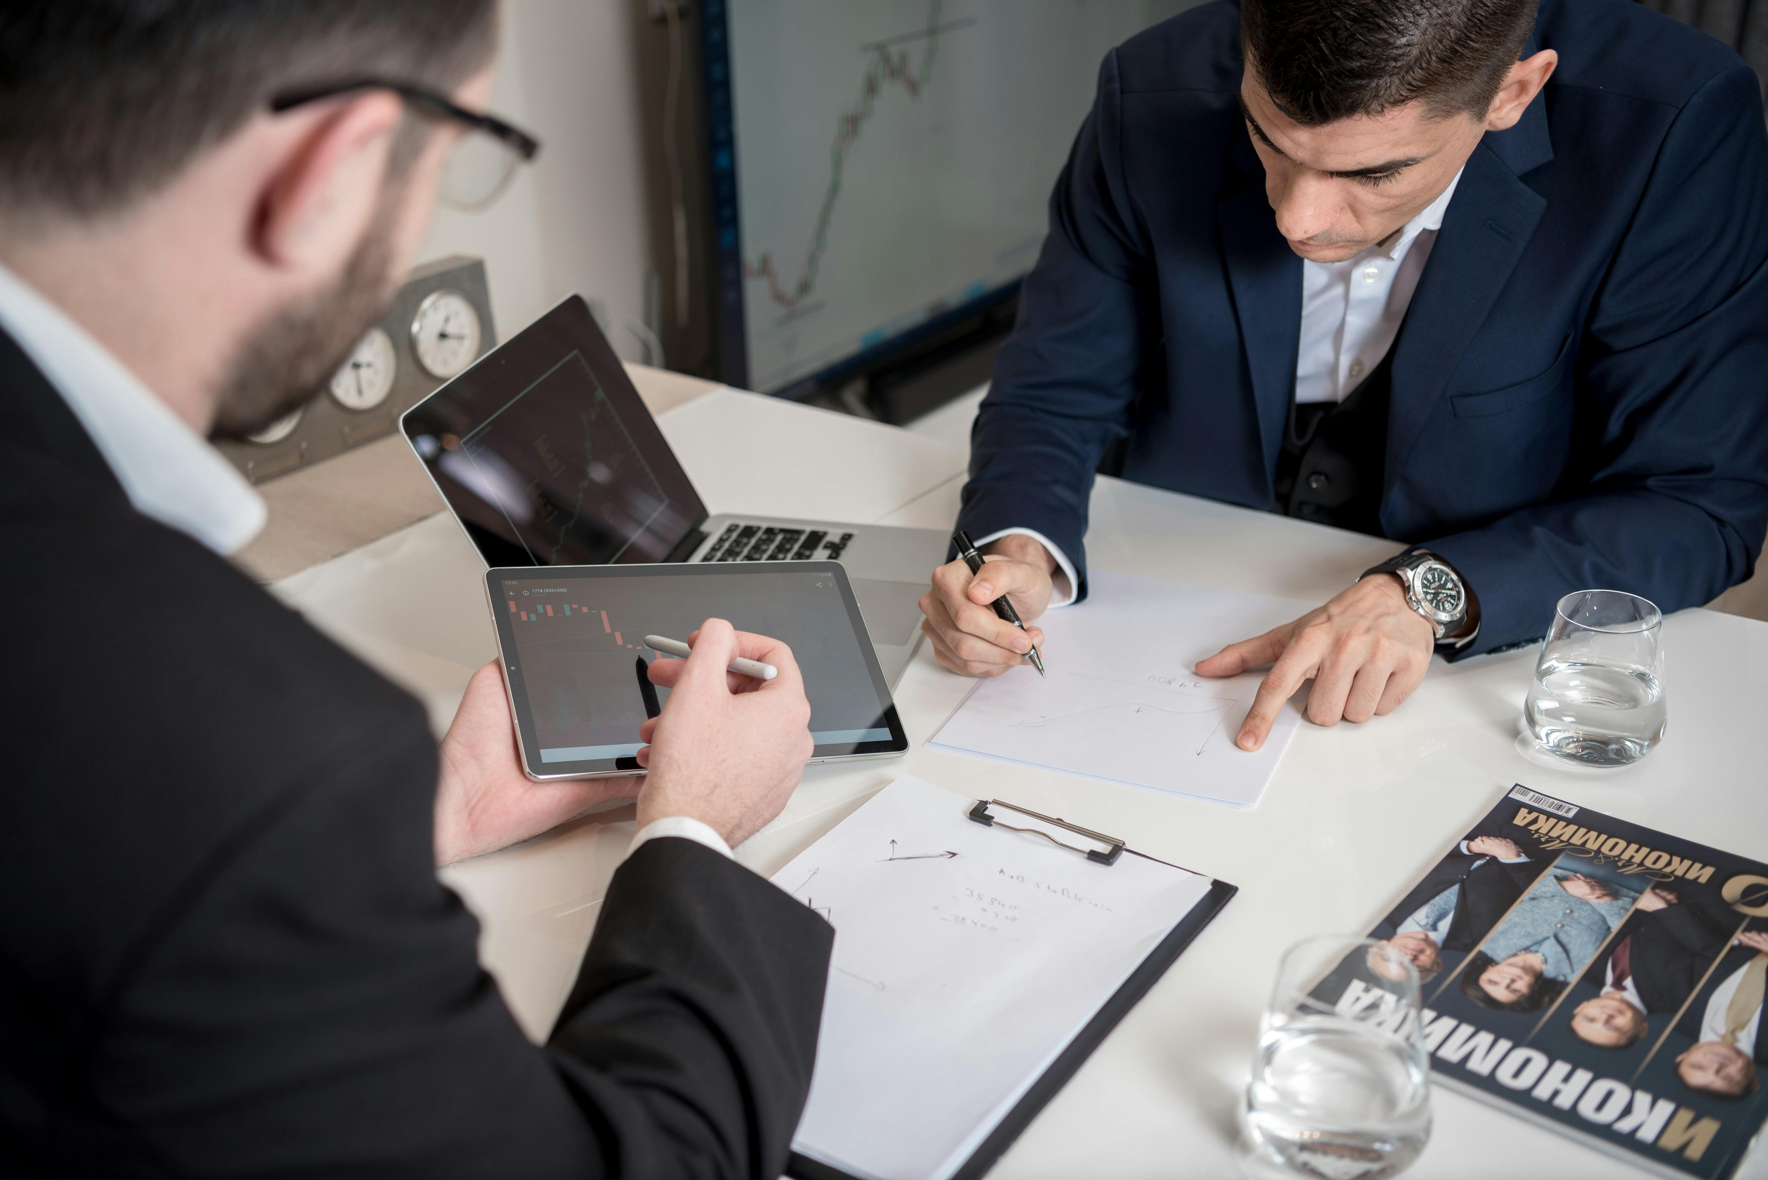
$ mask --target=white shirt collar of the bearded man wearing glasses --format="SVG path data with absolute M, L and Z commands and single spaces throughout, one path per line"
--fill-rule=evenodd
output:
M 263 528 L 246 477 L 60 307 L 0 267 L 0 330 L 48 378 L 143 516 L 226 555 Z

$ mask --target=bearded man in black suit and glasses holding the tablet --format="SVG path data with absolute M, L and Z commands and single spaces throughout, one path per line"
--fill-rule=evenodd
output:
M 810 753 L 790 652 L 709 620 L 654 666 L 638 846 L 539 1048 L 435 864 L 635 784 L 529 783 L 495 668 L 438 756 L 412 698 L 221 556 L 263 509 L 203 435 L 285 413 L 378 314 L 495 21 L 0 9 L 0 1173 L 785 1166 L 833 933 L 728 844 Z M 780 678 L 730 678 L 735 652 Z

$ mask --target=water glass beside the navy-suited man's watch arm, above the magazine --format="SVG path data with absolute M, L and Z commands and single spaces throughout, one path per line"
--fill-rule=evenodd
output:
M 1625 767 L 1664 738 L 1664 616 L 1621 590 L 1559 599 L 1522 707 L 1542 749 Z

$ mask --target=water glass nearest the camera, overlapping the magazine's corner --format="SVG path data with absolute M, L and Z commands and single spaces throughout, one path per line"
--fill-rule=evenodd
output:
M 1384 942 L 1303 938 L 1284 952 L 1246 1086 L 1248 1176 L 1397 1176 L 1430 1138 L 1418 970 Z

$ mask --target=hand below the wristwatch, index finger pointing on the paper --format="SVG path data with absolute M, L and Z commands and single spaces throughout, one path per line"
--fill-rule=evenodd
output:
M 1398 708 L 1425 678 L 1436 634 L 1406 604 L 1391 574 L 1347 586 L 1326 606 L 1255 639 L 1231 643 L 1197 664 L 1199 677 L 1238 677 L 1271 664 L 1234 742 L 1259 749 L 1284 701 L 1308 678 L 1308 721 L 1322 726 L 1368 721 Z

